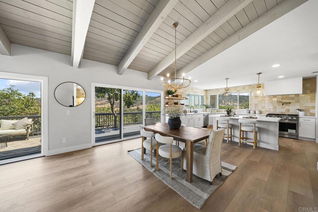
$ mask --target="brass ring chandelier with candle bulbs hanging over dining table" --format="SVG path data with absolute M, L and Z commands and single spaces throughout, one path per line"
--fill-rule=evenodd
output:
M 161 84 L 163 87 L 168 88 L 168 89 L 173 89 L 175 92 L 178 91 L 178 89 L 183 89 L 186 88 L 190 85 L 191 80 L 190 77 L 189 79 L 184 79 L 184 74 L 182 78 L 177 78 L 177 38 L 176 38 L 176 28 L 178 26 L 178 23 L 174 23 L 173 28 L 175 28 L 175 77 L 174 78 L 169 78 L 169 74 L 167 74 L 167 79 L 161 78 Z

